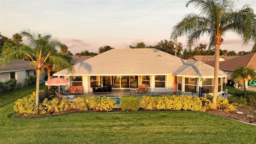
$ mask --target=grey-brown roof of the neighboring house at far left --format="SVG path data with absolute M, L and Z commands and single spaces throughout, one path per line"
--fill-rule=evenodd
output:
M 32 69 L 34 69 L 34 66 L 30 66 L 30 62 L 25 60 L 20 60 L 18 62 L 10 62 L 6 64 L 5 67 L 3 67 L 2 64 L 0 64 L 0 73 Z

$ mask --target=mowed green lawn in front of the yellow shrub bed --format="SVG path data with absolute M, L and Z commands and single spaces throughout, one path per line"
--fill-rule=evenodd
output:
M 30 96 L 26 91 L 23 97 Z M 14 101 L 0 107 L 1 144 L 256 143 L 256 126 L 203 112 L 96 112 L 13 119 Z

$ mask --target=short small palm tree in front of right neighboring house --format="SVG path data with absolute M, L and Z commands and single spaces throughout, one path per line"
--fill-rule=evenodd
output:
M 246 87 L 245 87 L 245 82 L 251 78 L 252 80 L 255 81 L 256 79 L 256 72 L 255 69 L 252 68 L 251 66 L 245 67 L 245 66 L 238 66 L 237 69 L 235 69 L 232 74 L 231 74 L 231 79 L 237 82 L 238 80 L 243 79 L 244 82 L 244 94 L 246 94 Z

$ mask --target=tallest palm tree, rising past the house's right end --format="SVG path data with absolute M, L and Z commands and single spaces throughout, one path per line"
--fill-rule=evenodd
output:
M 243 45 L 249 41 L 256 42 L 256 15 L 250 5 L 234 10 L 234 0 L 188 0 L 186 7 L 189 4 L 199 8 L 200 14 L 187 14 L 173 27 L 170 38 L 187 35 L 188 46 L 191 47 L 200 36 L 206 34 L 210 37 L 209 48 L 215 48 L 213 104 L 216 108 L 222 36 L 226 32 L 235 32 L 242 38 Z

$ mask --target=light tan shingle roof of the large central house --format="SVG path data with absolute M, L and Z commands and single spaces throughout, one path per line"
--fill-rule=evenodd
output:
M 200 69 L 206 72 L 197 72 Z M 124 48 L 108 50 L 74 65 L 74 74 L 62 70 L 55 73 L 54 76 L 183 74 L 188 76 L 214 76 L 213 69 L 202 62 L 184 60 L 154 48 Z M 195 72 L 192 72 L 193 70 Z M 202 73 L 202 75 L 198 75 L 198 73 Z M 222 71 L 220 71 L 220 75 L 226 76 Z

